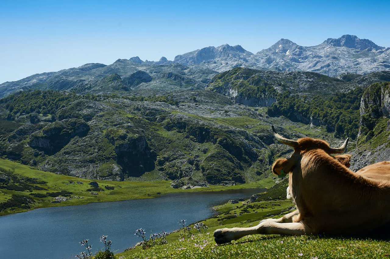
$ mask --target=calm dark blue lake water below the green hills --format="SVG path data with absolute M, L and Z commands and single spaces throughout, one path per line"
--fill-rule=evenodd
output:
M 141 241 L 134 235 L 144 228 L 146 235 L 171 232 L 181 226 L 213 216 L 211 208 L 229 199 L 250 197 L 265 189 L 223 192 L 189 192 L 161 195 L 154 199 L 123 200 L 35 209 L 0 216 L 0 257 L 7 259 L 70 259 L 85 249 L 89 239 L 92 251 L 103 249 L 101 235 L 112 240 L 112 250 L 124 249 Z

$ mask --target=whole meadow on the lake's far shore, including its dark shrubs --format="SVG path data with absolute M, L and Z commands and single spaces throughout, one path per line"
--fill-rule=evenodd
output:
M 89 184 L 91 182 L 96 182 L 97 186 L 91 186 Z M 44 172 L 14 161 L 0 159 L 0 206 L 3 206 L 0 215 L 53 206 L 153 198 L 165 193 L 269 188 L 273 184 L 273 180 L 267 178 L 259 182 L 235 186 L 212 185 L 183 190 L 171 188 L 170 181 L 82 179 Z M 56 197 L 64 197 L 67 200 L 58 202 Z M 8 202 L 7 206 L 4 205 L 6 202 Z M 13 204 L 10 204 L 10 202 L 13 202 Z M 4 206 L 11 207 L 5 208 Z

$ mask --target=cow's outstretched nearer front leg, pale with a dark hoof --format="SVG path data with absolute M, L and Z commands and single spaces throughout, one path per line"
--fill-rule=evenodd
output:
M 214 239 L 217 244 L 229 243 L 232 240 L 252 234 L 282 234 L 282 235 L 303 235 L 307 234 L 305 225 L 301 222 L 278 223 L 261 222 L 255 227 L 233 227 L 231 229 L 217 229 L 214 231 Z

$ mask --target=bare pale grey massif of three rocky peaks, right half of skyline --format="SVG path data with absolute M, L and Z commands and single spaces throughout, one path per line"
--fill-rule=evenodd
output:
M 312 71 L 328 76 L 341 73 L 366 74 L 390 70 L 390 48 L 354 35 L 327 39 L 317 46 L 304 47 L 280 39 L 256 54 L 241 46 L 207 47 L 175 57 L 174 62 L 191 67 L 209 67 L 222 72 L 233 67 L 273 71 Z

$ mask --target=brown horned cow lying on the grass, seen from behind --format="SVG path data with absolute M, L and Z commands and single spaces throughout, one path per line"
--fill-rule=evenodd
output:
M 350 155 L 332 156 L 346 150 L 324 140 L 282 137 L 272 126 L 274 137 L 294 148 L 289 159 L 279 158 L 273 173 L 287 174 L 287 198 L 296 210 L 282 218 L 268 218 L 254 227 L 217 229 L 218 244 L 250 234 L 347 234 L 367 235 L 390 226 L 390 161 L 348 169 Z

